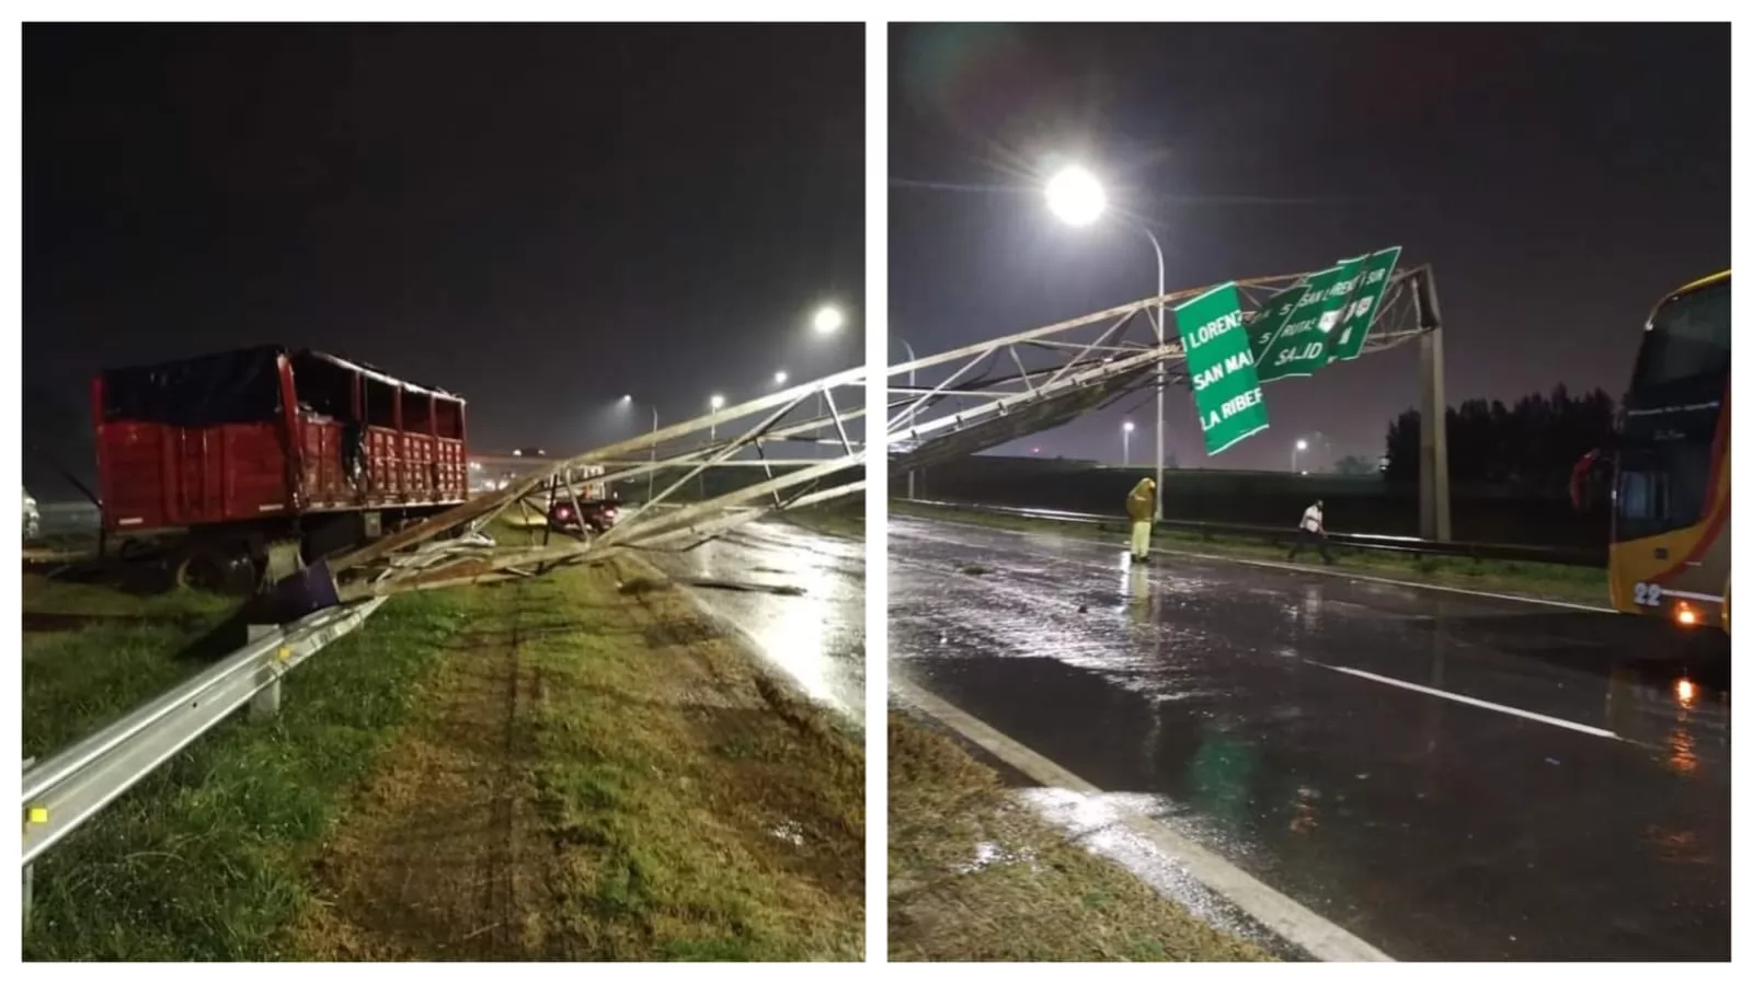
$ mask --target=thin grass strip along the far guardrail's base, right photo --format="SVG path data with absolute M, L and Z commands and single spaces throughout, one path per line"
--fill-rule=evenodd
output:
M 1055 532 L 1078 539 L 1111 541 L 1118 550 L 1124 545 L 1125 531 L 1120 520 L 1099 527 L 1090 524 L 1059 522 L 1034 517 L 1008 517 L 996 513 L 975 513 L 964 510 L 947 510 L 940 506 L 919 506 L 913 503 L 891 501 L 891 513 L 954 520 L 994 529 L 1011 529 L 1022 532 Z M 1236 536 L 1199 536 L 1183 531 L 1159 529 L 1152 538 L 1157 550 L 1210 553 L 1213 557 L 1234 557 L 1241 560 L 1285 562 L 1287 546 Z M 1529 595 L 1536 599 L 1569 601 L 1578 604 L 1608 606 L 1608 573 L 1604 567 L 1576 567 L 1569 564 L 1539 564 L 1527 560 L 1474 560 L 1471 557 L 1418 557 L 1409 553 L 1378 553 L 1369 550 L 1348 550 L 1331 545 L 1334 571 L 1355 571 L 1404 581 L 1422 581 L 1457 588 L 1474 588 L 1485 592 L 1502 592 Z M 1320 569 L 1320 555 L 1302 552 L 1292 564 Z

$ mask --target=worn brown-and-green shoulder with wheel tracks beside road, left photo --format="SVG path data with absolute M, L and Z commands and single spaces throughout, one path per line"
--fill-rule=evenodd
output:
M 314 867 L 316 959 L 861 959 L 864 756 L 643 566 L 493 588 Z

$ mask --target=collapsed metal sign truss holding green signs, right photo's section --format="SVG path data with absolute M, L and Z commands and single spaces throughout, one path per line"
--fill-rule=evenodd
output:
M 1394 273 L 1362 354 L 1395 348 L 1429 331 L 1415 292 L 1422 275 L 1427 268 Z M 1306 277 L 1238 280 L 1245 319 L 1252 324 L 1273 298 Z M 1210 289 L 1145 298 L 889 366 L 889 473 L 968 457 L 1059 427 L 1136 390 L 1185 383 L 1182 343 L 1166 331 L 1159 345 L 1152 319 L 1159 305 L 1173 306 Z

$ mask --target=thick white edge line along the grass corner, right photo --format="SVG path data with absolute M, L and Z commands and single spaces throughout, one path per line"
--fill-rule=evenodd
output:
M 901 679 L 889 679 L 889 688 L 903 700 L 954 728 L 968 741 L 990 751 L 999 760 L 1029 776 L 1036 783 L 1073 790 L 1083 795 L 1101 795 L 1103 790 L 1073 776 L 1059 763 L 1001 734 L 985 721 L 964 713 L 954 704 L 934 697 Z M 1325 961 L 1392 961 L 1388 954 L 1317 916 L 1302 903 L 1255 879 L 1217 853 L 1187 839 L 1162 821 L 1124 804 L 1113 804 L 1122 823 L 1139 837 L 1160 847 L 1180 861 L 1187 874 L 1227 898 L 1238 909 L 1257 919 L 1309 956 Z

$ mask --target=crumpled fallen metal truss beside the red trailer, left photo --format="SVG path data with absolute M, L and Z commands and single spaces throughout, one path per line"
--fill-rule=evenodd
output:
M 542 460 L 500 490 L 479 496 L 382 539 L 314 564 L 282 581 L 296 609 L 408 590 L 482 583 L 607 560 L 626 552 L 689 550 L 763 515 L 864 488 L 862 368 L 794 385 L 694 420 L 671 424 L 566 459 Z M 826 457 L 778 457 L 775 446 L 813 446 Z M 526 466 L 528 467 L 528 466 Z M 710 494 L 705 476 L 763 469 L 754 483 Z M 545 520 L 566 503 L 582 515 L 580 488 L 656 478 L 647 501 L 596 534 Z M 698 490 L 698 494 L 696 494 Z M 692 501 L 684 501 L 696 496 Z M 484 531 L 501 517 L 540 517 L 538 541 L 500 545 Z

